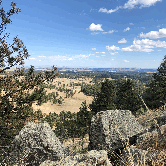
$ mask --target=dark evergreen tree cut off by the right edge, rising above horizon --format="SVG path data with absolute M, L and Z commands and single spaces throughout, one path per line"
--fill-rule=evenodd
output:
M 166 103 L 166 55 L 157 71 L 153 74 L 151 82 L 147 84 L 143 95 L 145 103 L 150 109 L 159 108 Z

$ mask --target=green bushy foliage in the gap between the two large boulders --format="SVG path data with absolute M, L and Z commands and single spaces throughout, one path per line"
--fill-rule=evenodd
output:
M 65 139 L 81 137 L 88 133 L 92 113 L 87 110 L 86 101 L 81 104 L 80 111 L 77 113 L 60 112 L 55 123 L 55 134 L 63 142 Z M 50 115 L 49 115 L 50 116 Z M 44 119 L 50 123 L 48 119 Z

